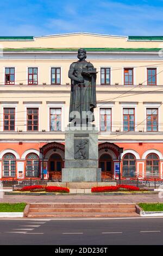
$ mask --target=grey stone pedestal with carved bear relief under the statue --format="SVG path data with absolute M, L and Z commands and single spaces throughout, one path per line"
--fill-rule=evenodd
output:
M 96 127 L 65 131 L 65 168 L 62 182 L 100 182 L 98 131 Z

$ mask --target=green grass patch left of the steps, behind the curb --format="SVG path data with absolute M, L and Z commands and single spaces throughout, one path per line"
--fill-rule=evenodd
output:
M 23 212 L 26 205 L 26 203 L 0 203 L 0 212 Z

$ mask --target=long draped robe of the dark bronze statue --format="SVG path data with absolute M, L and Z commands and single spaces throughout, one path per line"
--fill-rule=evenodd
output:
M 78 111 L 80 113 L 80 118 L 82 119 L 83 111 L 91 111 L 92 121 L 95 121 L 93 108 L 96 107 L 96 74 L 91 74 L 90 77 L 82 75 L 82 69 L 86 68 L 87 64 L 93 67 L 93 65 L 86 62 L 86 60 L 82 62 L 73 62 L 70 66 L 70 70 L 68 72 L 68 77 L 71 78 L 70 113 L 72 111 Z M 77 81 L 77 78 L 79 77 L 84 78 L 85 87 L 79 86 L 80 82 Z M 74 118 L 70 117 L 69 114 L 70 122 Z

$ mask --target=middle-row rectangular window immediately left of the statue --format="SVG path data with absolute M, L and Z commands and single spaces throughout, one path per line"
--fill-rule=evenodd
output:
M 50 108 L 50 130 L 61 131 L 61 108 Z

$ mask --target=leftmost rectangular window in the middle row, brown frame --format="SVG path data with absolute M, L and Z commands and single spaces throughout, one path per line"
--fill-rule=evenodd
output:
M 15 131 L 15 108 L 3 108 L 3 131 Z

